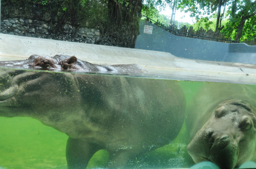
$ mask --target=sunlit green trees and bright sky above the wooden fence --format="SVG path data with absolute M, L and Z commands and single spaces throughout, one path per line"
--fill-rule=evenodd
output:
M 203 23 L 205 29 L 210 28 L 215 17 L 215 32 L 221 30 L 226 38 L 231 37 L 237 42 L 240 39 L 250 41 L 255 38 L 256 1 L 254 0 L 148 0 L 144 3 L 155 8 L 176 6 L 181 11 L 190 12 L 190 16 L 197 20 L 197 25 Z

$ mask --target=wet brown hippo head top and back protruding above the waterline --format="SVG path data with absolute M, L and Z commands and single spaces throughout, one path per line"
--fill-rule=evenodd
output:
M 55 55 L 53 57 L 31 55 L 27 60 L 0 62 L 0 66 L 53 71 L 71 70 L 79 73 L 140 74 L 147 72 L 146 69 L 136 64 L 98 65 L 69 55 Z

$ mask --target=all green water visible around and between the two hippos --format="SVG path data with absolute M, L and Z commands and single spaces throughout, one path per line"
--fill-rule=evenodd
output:
M 172 81 L 159 79 L 159 81 Z M 208 82 L 180 83 L 187 105 L 198 89 Z M 210 84 L 210 83 L 208 83 Z M 187 118 L 187 117 L 185 117 Z M 67 168 L 65 151 L 68 136 L 29 117 L 0 117 L 0 167 L 2 168 Z M 134 168 L 184 168 L 194 164 L 186 150 L 189 134 L 184 123 L 180 134 L 170 144 L 143 154 L 129 162 Z M 87 168 L 103 167 L 108 152 L 93 155 Z

